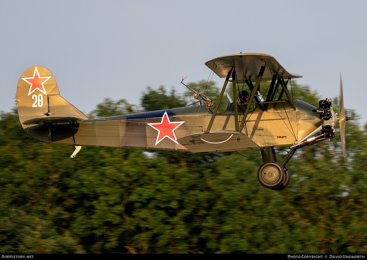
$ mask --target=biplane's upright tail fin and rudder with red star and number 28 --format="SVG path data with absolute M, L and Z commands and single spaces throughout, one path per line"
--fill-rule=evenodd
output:
M 54 76 L 40 66 L 30 67 L 19 79 L 17 108 L 23 129 L 34 139 L 47 143 L 49 124 L 88 119 L 60 96 Z

